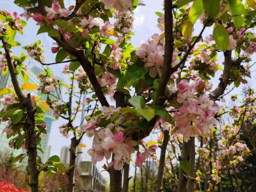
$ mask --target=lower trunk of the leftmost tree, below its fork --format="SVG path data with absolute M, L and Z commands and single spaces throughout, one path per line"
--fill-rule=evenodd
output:
M 35 110 L 33 109 L 33 104 L 31 102 L 30 94 L 25 99 L 24 107 L 27 111 L 26 120 L 26 146 L 28 147 L 28 166 L 30 175 L 30 187 L 32 192 L 39 191 L 38 189 L 38 169 L 37 169 L 37 151 L 36 151 L 36 134 L 35 134 Z

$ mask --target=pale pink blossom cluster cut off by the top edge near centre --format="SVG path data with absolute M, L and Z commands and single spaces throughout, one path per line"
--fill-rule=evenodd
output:
M 101 0 L 105 4 L 105 9 L 115 8 L 116 10 L 129 10 L 133 0 Z

